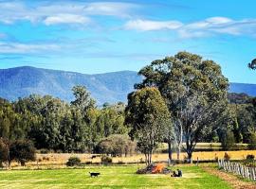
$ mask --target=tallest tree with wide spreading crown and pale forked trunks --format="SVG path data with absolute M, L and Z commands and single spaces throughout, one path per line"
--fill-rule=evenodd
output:
M 188 52 L 155 60 L 142 68 L 142 83 L 136 88 L 155 86 L 165 98 L 174 118 L 178 155 L 185 138 L 189 159 L 196 143 L 216 126 L 228 106 L 229 82 L 212 60 Z M 178 156 L 179 159 L 179 156 Z

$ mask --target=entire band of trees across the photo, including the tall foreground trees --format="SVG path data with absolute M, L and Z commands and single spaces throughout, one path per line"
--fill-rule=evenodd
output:
M 180 52 L 154 60 L 138 74 L 143 80 L 128 94 L 127 105 L 99 108 L 84 86 L 72 89 L 70 103 L 51 95 L 13 102 L 1 98 L 0 150 L 6 149 L 12 161 L 11 144 L 22 142 L 37 149 L 113 156 L 137 149 L 151 163 L 160 143 L 168 144 L 170 160 L 173 150 L 177 159 L 185 150 L 191 160 L 199 142 L 221 142 L 225 149 L 235 143 L 256 146 L 256 99 L 229 94 L 229 81 L 213 60 Z

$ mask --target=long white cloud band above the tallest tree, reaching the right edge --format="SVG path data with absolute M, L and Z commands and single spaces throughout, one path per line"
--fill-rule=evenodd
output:
M 198 38 L 217 34 L 255 36 L 256 19 L 232 20 L 227 17 L 210 17 L 188 24 L 177 20 L 130 20 L 123 27 L 139 31 L 169 29 L 176 31 L 181 38 Z

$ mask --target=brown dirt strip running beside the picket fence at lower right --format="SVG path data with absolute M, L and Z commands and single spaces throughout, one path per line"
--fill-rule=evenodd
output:
M 234 189 L 256 189 L 256 184 L 240 180 L 232 174 L 217 170 L 213 167 L 203 166 L 202 168 L 211 175 L 217 176 L 221 180 L 229 182 L 230 186 Z

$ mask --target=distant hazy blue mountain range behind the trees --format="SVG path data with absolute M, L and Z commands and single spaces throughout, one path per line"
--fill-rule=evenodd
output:
M 34 67 L 0 69 L 0 96 L 9 100 L 29 94 L 50 94 L 65 101 L 73 100 L 72 87 L 84 85 L 97 99 L 104 102 L 126 102 L 134 84 L 141 81 L 137 72 L 121 71 L 97 75 L 47 70 Z M 232 93 L 256 95 L 256 84 L 230 83 Z

